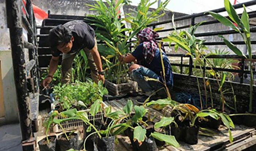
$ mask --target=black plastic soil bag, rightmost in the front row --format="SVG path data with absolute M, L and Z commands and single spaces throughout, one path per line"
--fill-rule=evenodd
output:
M 193 126 L 193 127 L 186 127 L 186 136 L 185 136 L 185 143 L 194 145 L 198 142 L 198 131 L 199 127 Z

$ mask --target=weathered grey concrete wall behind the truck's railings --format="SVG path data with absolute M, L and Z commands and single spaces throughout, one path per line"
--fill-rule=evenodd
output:
M 93 11 L 89 11 L 90 7 L 86 6 L 86 4 L 93 4 L 95 1 L 90 1 L 90 0 L 32 0 L 33 4 L 40 6 L 44 11 L 50 10 L 52 14 L 60 14 L 60 15 L 87 15 L 87 14 L 92 14 L 94 13 Z M 170 1 L 172 3 L 172 1 Z M 131 12 L 131 9 L 136 9 L 136 6 L 124 6 L 124 12 Z M 153 11 L 154 9 L 151 9 Z M 166 15 L 161 17 L 159 21 L 163 20 L 169 20 L 171 19 L 173 13 L 172 12 L 166 12 Z M 174 12 L 174 17 L 180 17 L 184 16 L 186 14 L 184 13 L 176 13 Z M 195 20 L 195 23 L 199 23 L 201 21 L 210 21 L 213 20 L 212 17 L 210 16 L 203 16 L 203 17 L 197 17 Z M 182 20 L 182 21 L 177 21 L 176 27 L 184 26 L 184 25 L 189 25 L 191 23 L 191 20 Z M 168 28 L 173 28 L 172 23 L 164 24 L 164 25 L 159 25 L 157 27 L 164 27 L 164 29 Z M 196 33 L 200 32 L 210 32 L 210 31 L 223 31 L 227 30 L 229 28 L 225 27 L 222 24 L 213 24 L 213 25 L 204 25 L 202 27 L 199 27 L 196 31 Z M 167 36 L 171 32 L 163 32 L 160 33 L 160 37 Z M 228 38 L 228 35 L 226 36 Z M 218 36 L 208 36 L 208 37 L 200 37 L 200 39 L 207 40 L 207 41 L 222 41 Z M 256 39 L 256 34 L 252 33 L 252 40 Z M 233 41 L 241 41 L 242 38 L 239 34 L 233 34 Z M 237 45 L 238 48 L 241 50 L 244 50 L 244 45 Z M 253 45 L 253 51 L 256 52 L 256 45 Z M 214 46 L 208 46 L 210 50 L 214 49 L 227 49 L 225 45 L 214 45 Z M 167 48 L 169 52 L 173 50 L 173 48 Z M 231 52 L 232 53 L 232 52 Z

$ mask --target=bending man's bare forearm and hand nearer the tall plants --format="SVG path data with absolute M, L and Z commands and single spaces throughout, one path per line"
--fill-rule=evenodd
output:
M 99 72 L 102 72 L 102 63 L 101 63 L 101 57 L 99 56 L 97 44 L 94 45 L 93 49 L 90 50 L 90 53 L 93 55 L 93 60 L 96 64 L 96 67 Z M 105 81 L 104 75 L 99 75 L 99 80 Z

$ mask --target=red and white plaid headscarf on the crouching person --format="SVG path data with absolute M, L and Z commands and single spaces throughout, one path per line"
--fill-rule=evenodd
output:
M 150 64 L 154 58 L 155 51 L 157 51 L 158 42 L 155 40 L 159 37 L 158 33 L 153 31 L 150 28 L 145 28 L 137 34 L 140 42 L 143 42 L 143 56 L 144 60 Z M 161 49 L 165 52 L 165 48 L 163 47 L 163 43 L 161 43 Z

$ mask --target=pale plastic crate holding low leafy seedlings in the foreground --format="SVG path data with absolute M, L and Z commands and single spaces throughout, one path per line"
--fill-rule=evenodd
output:
M 103 106 L 104 108 L 108 107 L 104 102 L 103 103 Z M 81 111 L 84 111 L 87 113 L 88 115 L 88 119 L 89 120 L 95 120 L 97 122 L 99 122 L 101 119 L 102 119 L 102 116 L 104 116 L 104 110 L 103 112 L 99 112 L 97 113 L 94 117 L 90 114 L 90 109 L 87 109 L 87 110 L 81 110 Z M 60 115 L 58 115 L 57 117 L 55 117 L 56 119 L 64 119 L 63 117 L 61 117 Z M 78 129 L 78 128 L 82 128 L 83 127 L 83 121 L 82 120 L 79 120 L 79 119 L 75 119 L 75 120 L 68 120 L 66 122 L 63 122 L 61 123 L 61 126 L 64 128 L 65 131 L 71 131 L 71 130 L 75 130 L 75 129 Z M 62 129 L 61 127 L 59 126 L 59 124 L 56 124 L 54 127 L 53 127 L 53 132 L 54 133 L 59 133 L 59 132 L 62 132 Z

